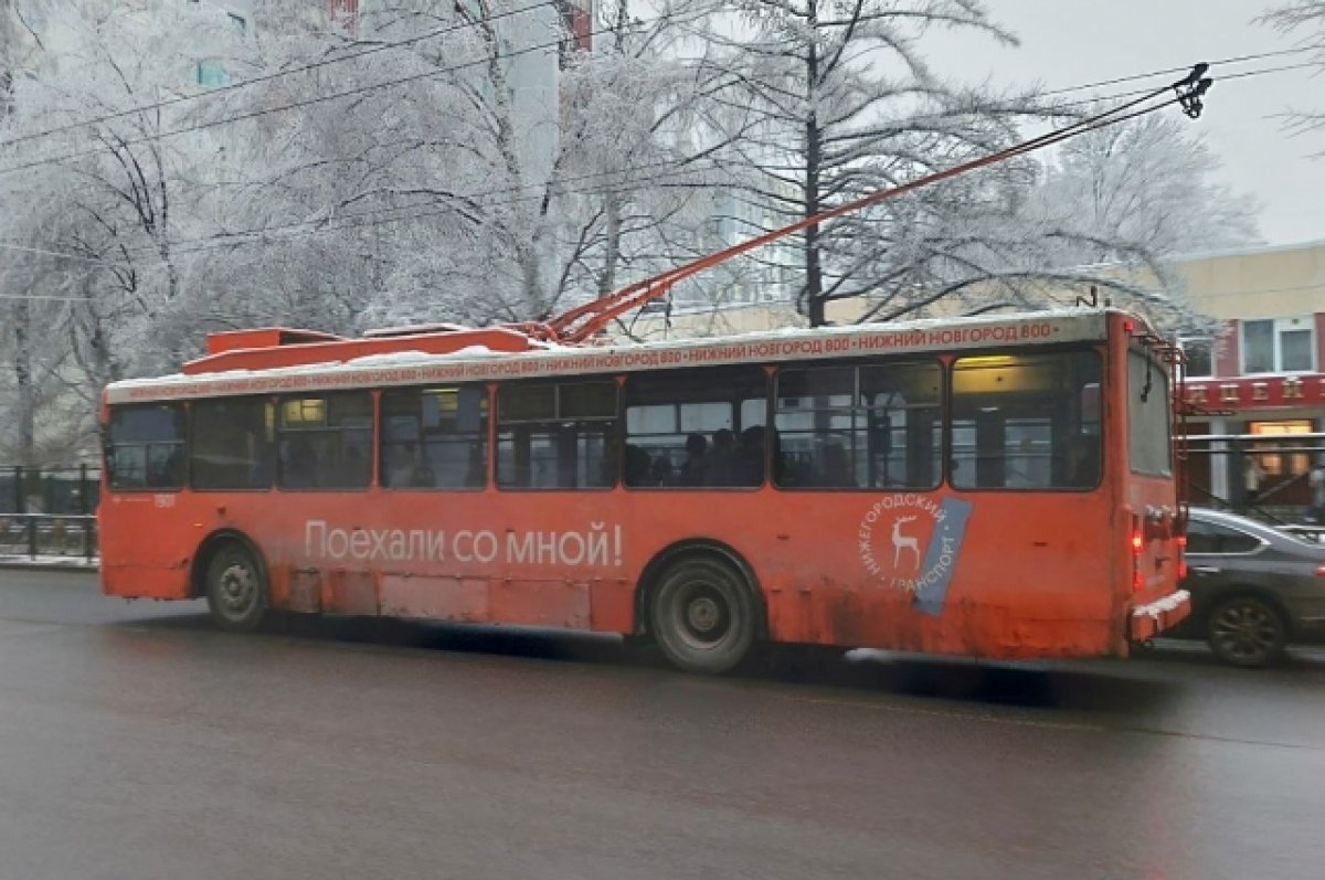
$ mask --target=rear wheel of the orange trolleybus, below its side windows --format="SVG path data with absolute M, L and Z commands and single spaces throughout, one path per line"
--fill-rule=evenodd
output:
M 750 652 L 755 608 L 753 591 L 735 569 L 696 555 L 673 563 L 659 578 L 649 619 L 659 648 L 674 667 L 719 675 Z

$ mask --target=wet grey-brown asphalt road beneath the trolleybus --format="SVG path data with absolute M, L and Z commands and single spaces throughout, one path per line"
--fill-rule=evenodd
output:
M 0 880 L 1325 876 L 1325 651 L 673 673 L 0 571 Z

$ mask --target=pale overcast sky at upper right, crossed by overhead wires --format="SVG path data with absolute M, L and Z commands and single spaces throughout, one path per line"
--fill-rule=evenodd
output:
M 1277 0 L 1287 3 L 1287 0 Z M 1276 0 L 986 0 L 994 17 L 1020 37 L 1019 48 L 984 38 L 928 44 L 935 70 L 963 80 L 1041 83 L 1048 89 L 1166 68 L 1291 48 L 1277 32 L 1252 24 Z M 1260 199 L 1267 243 L 1325 239 L 1325 131 L 1291 137 L 1273 115 L 1288 106 L 1325 110 L 1325 77 L 1291 70 L 1220 83 L 1220 74 L 1300 62 L 1301 56 L 1212 69 L 1204 115 L 1192 122 L 1223 162 L 1222 182 Z M 1157 81 L 1158 82 L 1158 81 Z M 1128 90 L 1136 85 L 1113 86 Z M 1171 113 L 1179 113 L 1173 109 Z

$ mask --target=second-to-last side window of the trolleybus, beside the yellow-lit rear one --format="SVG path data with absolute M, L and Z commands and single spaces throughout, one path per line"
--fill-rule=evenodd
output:
M 778 372 L 778 474 L 787 489 L 938 486 L 938 363 Z

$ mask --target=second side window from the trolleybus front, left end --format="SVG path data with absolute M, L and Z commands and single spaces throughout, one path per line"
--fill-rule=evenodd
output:
M 189 407 L 189 485 L 268 489 L 276 415 L 265 398 L 197 400 Z

